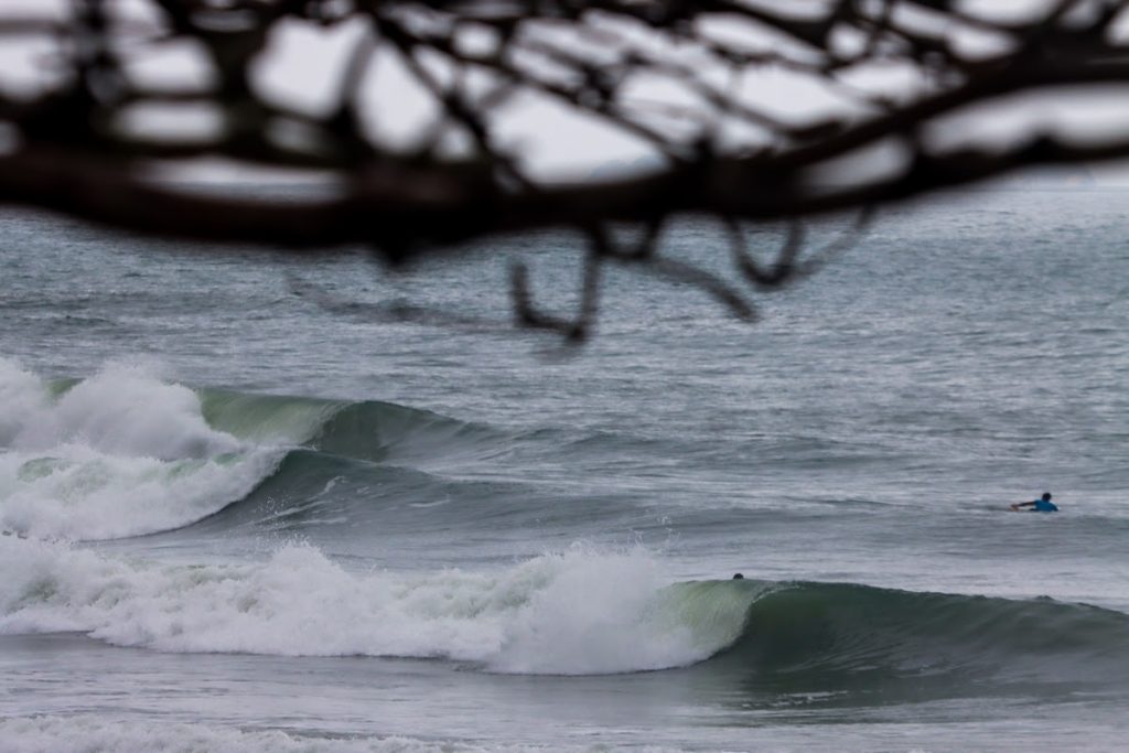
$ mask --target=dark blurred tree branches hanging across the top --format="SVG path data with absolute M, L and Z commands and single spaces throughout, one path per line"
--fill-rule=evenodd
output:
M 805 261 L 794 229 L 761 268 L 744 248 L 743 224 L 844 210 L 865 219 L 876 205 L 1021 167 L 1129 155 L 1129 125 L 1095 138 L 1032 117 L 1001 143 L 954 121 L 984 107 L 997 108 L 986 119 L 1013 114 L 1017 95 L 1129 82 L 1124 2 L 1049 1 L 1008 17 L 979 6 L 73 0 L 60 15 L 29 2 L 0 10 L 0 41 L 44 50 L 34 85 L 0 81 L 0 202 L 168 237 L 306 253 L 364 244 L 392 263 L 497 234 L 572 228 L 589 239 L 578 318 L 537 312 L 516 268 L 519 323 L 583 338 L 609 262 L 679 277 L 751 317 L 735 283 L 658 253 L 666 219 L 717 217 L 734 238 L 738 284 L 763 289 L 811 272 L 826 253 Z M 280 102 L 256 79 L 297 28 L 351 34 L 329 107 Z M 178 47 L 193 51 L 200 73 L 152 76 L 152 61 Z M 387 65 L 434 114 L 406 143 L 374 125 L 404 106 L 395 89 L 370 82 Z M 884 75 L 901 82 L 876 84 Z M 764 82 L 772 76 L 816 87 L 826 106 L 779 102 L 780 87 Z M 648 169 L 539 177 L 505 137 L 517 102 L 632 140 L 650 155 Z M 163 108 L 211 125 L 190 134 L 138 125 Z M 569 148 L 551 135 L 551 148 Z M 882 169 L 843 167 L 882 149 L 894 155 Z M 216 158 L 316 176 L 333 191 L 272 200 L 167 180 Z M 634 224 L 638 239 L 614 240 L 607 228 L 619 222 Z

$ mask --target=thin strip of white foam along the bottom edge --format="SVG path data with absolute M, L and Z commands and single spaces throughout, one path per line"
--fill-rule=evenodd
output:
M 0 720 L 5 753 L 534 753 L 618 748 L 471 744 L 410 737 L 310 737 L 278 729 L 243 730 L 203 724 L 107 720 L 90 715 L 24 717 Z M 657 747 L 631 748 L 662 753 Z M 665 750 L 665 748 L 664 748 Z

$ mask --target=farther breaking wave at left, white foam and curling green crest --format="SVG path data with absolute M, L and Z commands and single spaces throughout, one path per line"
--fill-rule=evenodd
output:
M 342 458 L 457 457 L 484 431 L 391 403 L 191 389 L 135 365 L 52 382 L 0 359 L 0 528 L 73 541 L 174 531 L 280 469 L 292 475 L 275 490 L 323 489 Z M 295 453 L 307 459 L 286 463 Z

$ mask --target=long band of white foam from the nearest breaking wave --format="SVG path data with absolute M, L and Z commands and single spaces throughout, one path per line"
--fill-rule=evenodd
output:
M 0 632 L 81 631 L 165 651 L 443 657 L 498 672 L 684 666 L 742 628 L 667 604 L 644 552 L 571 550 L 498 572 L 355 573 L 310 546 L 264 562 L 160 566 L 0 539 Z

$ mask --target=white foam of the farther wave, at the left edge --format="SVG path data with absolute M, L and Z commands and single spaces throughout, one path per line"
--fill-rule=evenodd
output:
M 250 493 L 281 448 L 211 429 L 191 389 L 110 365 L 53 399 L 0 360 L 0 527 L 111 539 L 178 528 Z

